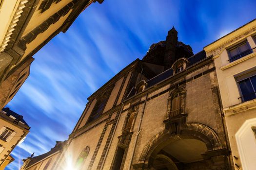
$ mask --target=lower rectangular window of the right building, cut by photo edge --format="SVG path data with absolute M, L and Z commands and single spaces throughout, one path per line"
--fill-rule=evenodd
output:
M 243 102 L 256 98 L 256 70 L 236 78 Z

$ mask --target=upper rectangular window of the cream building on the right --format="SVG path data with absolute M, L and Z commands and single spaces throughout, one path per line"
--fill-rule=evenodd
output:
M 229 58 L 230 58 L 228 61 L 231 63 L 231 62 L 236 61 L 239 58 L 242 58 L 252 52 L 253 51 L 250 48 L 248 42 L 247 41 L 242 42 L 228 50 Z

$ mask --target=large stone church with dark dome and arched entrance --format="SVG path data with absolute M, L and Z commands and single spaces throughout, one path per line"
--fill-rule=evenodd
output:
M 213 56 L 174 28 L 88 101 L 68 140 L 21 170 L 234 169 Z

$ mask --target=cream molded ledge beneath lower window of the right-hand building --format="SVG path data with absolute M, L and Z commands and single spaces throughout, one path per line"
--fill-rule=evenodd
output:
M 239 104 L 224 108 L 225 117 L 256 108 L 256 99 L 241 102 Z

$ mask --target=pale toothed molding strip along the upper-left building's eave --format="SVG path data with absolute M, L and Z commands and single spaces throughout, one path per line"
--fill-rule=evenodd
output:
M 4 51 L 4 49 L 8 45 L 8 42 L 10 41 L 11 35 L 13 34 L 13 31 L 15 30 L 15 27 L 17 26 L 17 22 L 19 21 L 19 19 L 21 17 L 21 14 L 23 13 L 23 8 L 26 7 L 25 4 L 27 2 L 28 2 L 28 0 L 20 0 L 20 4 L 19 4 L 19 6 L 16 10 L 15 15 L 13 16 L 11 24 L 9 25 L 7 33 L 5 34 L 3 42 L 0 46 L 0 52 Z

